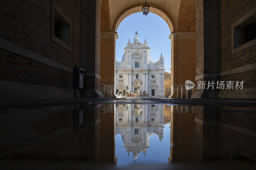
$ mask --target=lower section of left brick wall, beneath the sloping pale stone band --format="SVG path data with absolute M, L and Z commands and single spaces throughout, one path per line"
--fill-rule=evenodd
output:
M 0 49 L 0 79 L 36 85 L 72 88 L 72 74 Z

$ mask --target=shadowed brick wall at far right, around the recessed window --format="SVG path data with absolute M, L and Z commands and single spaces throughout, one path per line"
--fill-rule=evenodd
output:
M 256 6 L 254 0 L 219 1 L 219 73 L 256 62 L 253 45 L 232 55 L 231 25 Z M 243 90 L 220 90 L 221 98 L 255 98 L 256 70 L 244 71 L 220 78 L 221 81 L 244 81 Z

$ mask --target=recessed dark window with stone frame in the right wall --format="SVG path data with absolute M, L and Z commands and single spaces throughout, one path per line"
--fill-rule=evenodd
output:
M 232 24 L 232 54 L 256 44 L 256 11 Z

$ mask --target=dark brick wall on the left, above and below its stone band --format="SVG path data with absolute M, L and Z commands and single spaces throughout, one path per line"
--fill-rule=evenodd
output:
M 67 67 L 80 65 L 80 1 L 54 0 L 72 22 L 69 52 L 51 37 L 52 1 L 1 1 L 0 37 Z M 1 80 L 72 88 L 72 74 L 0 49 Z

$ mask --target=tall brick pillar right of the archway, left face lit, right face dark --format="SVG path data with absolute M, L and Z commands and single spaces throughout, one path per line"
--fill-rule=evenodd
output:
M 196 0 L 196 84 L 206 81 L 205 89 L 196 89 L 191 98 L 216 98 L 218 91 L 207 88 L 219 71 L 218 0 Z

